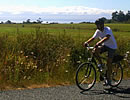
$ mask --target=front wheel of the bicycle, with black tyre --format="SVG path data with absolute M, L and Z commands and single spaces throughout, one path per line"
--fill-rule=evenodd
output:
M 96 82 L 96 70 L 90 63 L 83 63 L 76 72 L 76 84 L 83 90 L 90 90 Z

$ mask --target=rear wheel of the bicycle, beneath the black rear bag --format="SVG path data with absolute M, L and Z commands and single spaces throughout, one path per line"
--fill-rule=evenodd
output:
M 123 78 L 123 69 L 120 63 L 115 63 L 112 66 L 112 82 L 110 86 L 117 87 Z

